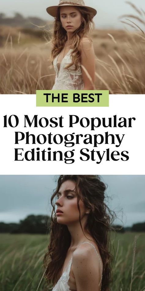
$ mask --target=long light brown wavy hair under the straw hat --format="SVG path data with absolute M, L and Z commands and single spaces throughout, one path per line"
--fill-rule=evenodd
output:
M 74 64 L 75 69 L 77 69 L 78 62 L 80 62 L 80 52 L 81 52 L 80 41 L 82 40 L 83 37 L 87 37 L 88 39 L 90 39 L 87 36 L 87 33 L 91 32 L 91 30 L 95 27 L 95 25 L 93 22 L 93 14 L 86 7 L 75 6 L 75 8 L 79 10 L 82 16 L 82 22 L 81 22 L 80 27 L 76 29 L 72 34 L 71 41 L 70 41 L 71 48 L 73 49 L 73 51 L 71 52 L 72 63 L 66 66 L 65 68 L 69 68 Z M 52 61 L 52 64 L 53 64 L 54 58 L 64 48 L 66 41 L 67 41 L 67 32 L 61 25 L 60 7 L 58 7 L 57 16 L 54 21 L 54 35 L 52 39 L 53 48 L 50 55 L 50 60 Z

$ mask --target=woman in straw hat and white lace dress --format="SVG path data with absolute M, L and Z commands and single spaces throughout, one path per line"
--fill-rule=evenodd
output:
M 94 90 L 95 53 L 87 33 L 94 27 L 94 8 L 83 0 L 60 0 L 47 12 L 55 18 L 50 60 L 56 72 L 53 90 Z

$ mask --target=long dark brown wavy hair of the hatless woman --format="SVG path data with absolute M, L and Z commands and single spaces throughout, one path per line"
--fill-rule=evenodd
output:
M 63 182 L 71 180 L 76 184 L 77 205 L 79 200 L 84 202 L 87 209 L 90 210 L 87 216 L 87 223 L 84 227 L 86 232 L 92 236 L 96 242 L 103 263 L 102 273 L 102 291 L 109 291 L 112 283 L 112 263 L 113 254 L 111 252 L 110 233 L 113 227 L 115 213 L 110 211 L 104 199 L 106 186 L 100 180 L 98 175 L 61 175 L 58 178 L 58 185 L 51 197 L 53 207 L 51 214 L 51 232 L 48 252 L 44 257 L 45 277 L 49 284 L 53 286 L 59 280 L 61 269 L 64 264 L 67 251 L 71 244 L 71 235 L 68 227 L 57 223 L 55 213 L 55 201 L 57 193 Z M 81 220 L 80 220 L 80 226 Z M 82 228 L 83 230 L 83 228 Z M 84 232 L 84 231 L 83 231 Z

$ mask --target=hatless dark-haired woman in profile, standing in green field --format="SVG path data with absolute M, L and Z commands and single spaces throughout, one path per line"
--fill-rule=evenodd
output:
M 97 175 L 58 178 L 51 197 L 50 243 L 44 258 L 52 291 L 110 290 L 113 257 L 109 234 L 114 214 L 105 204 L 105 190 Z

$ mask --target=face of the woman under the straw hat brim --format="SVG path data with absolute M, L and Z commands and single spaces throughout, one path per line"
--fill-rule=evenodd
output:
M 74 6 L 60 7 L 60 20 L 67 32 L 73 33 L 81 25 L 81 14 Z

